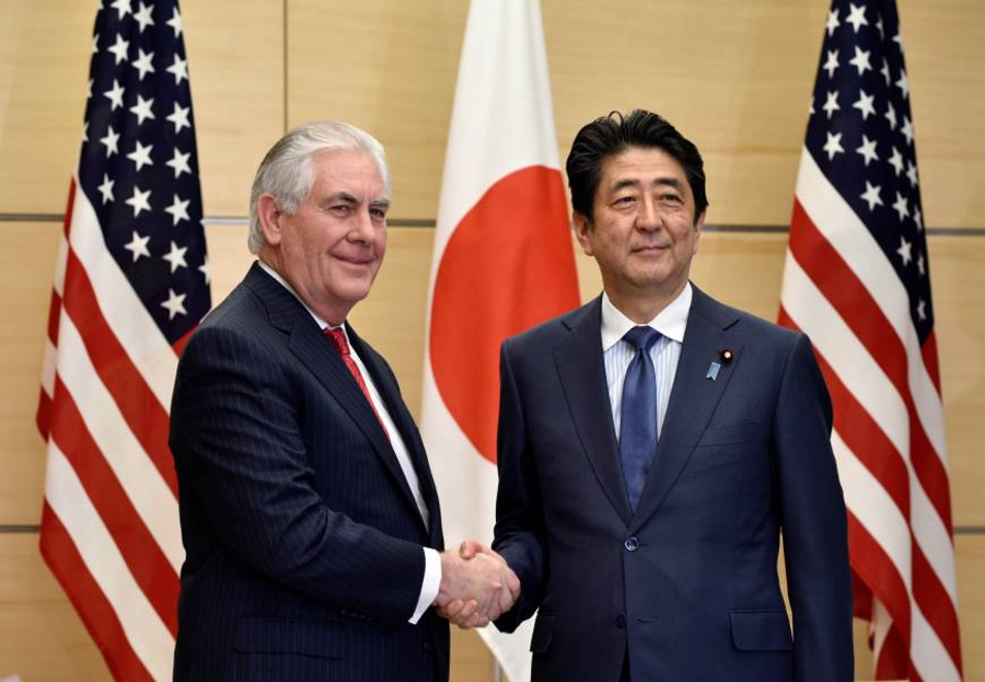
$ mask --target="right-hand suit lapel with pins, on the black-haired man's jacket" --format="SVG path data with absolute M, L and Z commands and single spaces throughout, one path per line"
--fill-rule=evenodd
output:
M 657 459 L 647 476 L 630 531 L 638 529 L 663 502 L 691 459 L 732 377 L 742 348 L 729 347 L 733 357 L 728 363 L 722 363 L 720 352 L 728 347 L 726 330 L 735 320 L 738 317 L 726 307 L 716 303 L 694 287 L 694 300 L 663 418 Z M 715 380 L 707 378 L 711 362 L 719 362 L 721 366 Z

